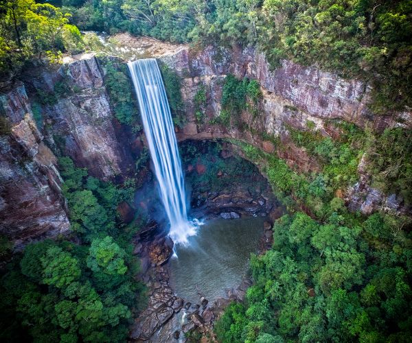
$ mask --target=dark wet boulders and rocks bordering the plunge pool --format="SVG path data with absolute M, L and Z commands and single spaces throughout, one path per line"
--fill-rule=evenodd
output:
M 260 232 L 255 252 L 264 252 L 273 243 L 271 223 L 284 210 L 273 198 L 267 183 L 254 191 L 249 188 L 250 185 L 233 180 L 231 187 L 225 186 L 218 191 L 192 189 L 192 215 L 203 220 L 220 218 L 228 221 L 253 216 L 268 218 L 255 228 Z M 238 285 L 225 289 L 225 296 L 214 301 L 209 301 L 199 289 L 197 301 L 189 302 L 184 296 L 177 296 L 170 283 L 173 245 L 163 228 L 155 222 L 142 230 L 135 240 L 135 254 L 141 261 L 139 279 L 148 287 L 148 307 L 139 314 L 130 329 L 132 342 L 185 342 L 185 336 L 191 331 L 213 341 L 216 319 L 232 300 L 243 300 L 252 283 L 246 276 Z

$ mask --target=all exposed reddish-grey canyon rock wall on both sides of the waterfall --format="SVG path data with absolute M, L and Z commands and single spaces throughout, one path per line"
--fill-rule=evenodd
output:
M 155 40 L 152 45 L 157 45 Z M 241 139 L 277 154 L 299 171 L 319 171 L 317 161 L 290 141 L 288 126 L 308 130 L 310 121 L 330 137 L 339 134 L 329 125 L 330 119 L 375 130 L 412 127 L 409 112 L 372 115 L 367 106 L 371 88 L 361 81 L 344 80 L 287 60 L 271 71 L 264 55 L 253 48 L 192 51 L 179 46 L 168 54 L 159 54 L 161 62 L 183 79 L 186 124 L 177 132 L 179 140 Z M 248 130 L 209 122 L 220 113 L 222 84 L 228 73 L 260 82 L 263 99 L 258 115 L 253 117 L 247 110 L 242 113 Z M 57 169 L 59 152 L 102 180 L 133 176 L 139 142 L 130 128 L 115 119 L 104 76 L 100 60 L 86 54 L 58 69 L 33 71 L 0 94 L 0 232 L 17 248 L 34 239 L 69 232 Z M 201 85 L 206 88 L 207 102 L 205 120 L 198 123 L 193 99 Z M 56 93 L 56 89 L 60 91 Z M 39 112 L 41 123 L 34 119 Z M 282 149 L 267 137 L 279 137 Z M 358 184 L 346 192 L 351 209 L 363 213 L 401 209 L 402 200 L 396 195 L 384 195 L 369 187 L 362 165 L 359 174 Z

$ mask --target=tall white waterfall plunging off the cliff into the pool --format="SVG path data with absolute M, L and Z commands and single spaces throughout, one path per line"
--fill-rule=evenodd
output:
M 186 244 L 198 222 L 187 219 L 185 182 L 168 98 L 155 58 L 128 62 L 139 101 L 141 119 L 163 206 L 170 220 L 170 237 Z

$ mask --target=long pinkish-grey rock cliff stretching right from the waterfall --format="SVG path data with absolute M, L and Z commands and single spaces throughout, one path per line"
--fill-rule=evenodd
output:
M 317 161 L 297 147 L 288 137 L 288 126 L 308 130 L 308 122 L 325 137 L 339 134 L 328 121 L 341 119 L 361 128 L 377 131 L 402 126 L 412 127 L 412 113 L 388 113 L 373 115 L 368 105 L 371 102 L 371 87 L 359 80 L 345 80 L 339 75 L 320 71 L 315 67 L 303 67 L 288 60 L 271 71 L 263 54 L 253 48 L 228 51 L 209 47 L 194 52 L 179 51 L 174 56 L 161 58 L 183 77 L 183 99 L 186 105 L 187 124 L 178 132 L 178 139 L 211 139 L 233 137 L 248 141 L 268 153 L 276 153 L 286 163 L 299 171 L 319 171 Z M 209 124 L 209 119 L 220 113 L 222 84 L 231 73 L 238 78 L 256 79 L 260 83 L 263 99 L 259 114 L 253 117 L 242 113 L 242 122 L 248 130 L 223 128 Z M 206 120 L 196 123 L 194 95 L 201 84 L 207 89 Z M 263 135 L 262 135 L 263 134 Z M 262 137 L 277 136 L 281 146 L 275 147 Z M 369 187 L 369 177 L 363 167 L 358 168 L 359 182 L 346 191 L 346 200 L 354 211 L 369 214 L 377 209 L 407 211 L 396 195 L 384 195 Z

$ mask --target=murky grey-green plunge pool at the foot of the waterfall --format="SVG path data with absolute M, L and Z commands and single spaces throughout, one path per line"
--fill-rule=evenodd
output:
M 213 219 L 189 237 L 188 246 L 176 246 L 169 263 L 170 285 L 177 296 L 200 303 L 225 298 L 227 289 L 238 286 L 249 269 L 251 252 L 258 250 L 265 217 Z

